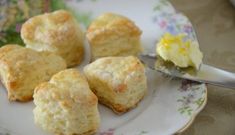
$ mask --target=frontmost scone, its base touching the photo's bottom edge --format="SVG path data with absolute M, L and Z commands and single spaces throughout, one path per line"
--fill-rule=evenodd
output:
M 98 99 L 76 69 L 55 74 L 35 88 L 34 120 L 56 135 L 90 135 L 100 123 Z

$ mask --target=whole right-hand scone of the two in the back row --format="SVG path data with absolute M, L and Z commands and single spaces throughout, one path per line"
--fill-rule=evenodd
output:
M 86 36 L 92 61 L 105 56 L 130 56 L 142 51 L 142 31 L 127 17 L 105 13 L 89 26 Z

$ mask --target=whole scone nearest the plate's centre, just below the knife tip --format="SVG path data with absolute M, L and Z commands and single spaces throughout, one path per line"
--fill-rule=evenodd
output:
M 99 101 L 118 114 L 135 107 L 147 91 L 144 66 L 134 56 L 97 59 L 84 73 Z

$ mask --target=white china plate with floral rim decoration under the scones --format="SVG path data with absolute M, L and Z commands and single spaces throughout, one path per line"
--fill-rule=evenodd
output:
M 167 31 L 173 34 L 186 32 L 188 38 L 196 40 L 188 19 L 165 0 L 70 0 L 67 4 L 85 27 L 92 18 L 104 12 L 129 17 L 143 30 L 142 41 L 148 52 L 155 50 L 156 41 Z M 82 66 L 88 59 L 87 51 Z M 99 105 L 101 127 L 98 135 L 174 134 L 185 129 L 205 106 L 205 84 L 171 79 L 151 70 L 146 70 L 146 74 L 148 94 L 135 109 L 119 116 Z M 2 85 L 0 89 L 0 135 L 47 134 L 33 122 L 32 102 L 9 102 Z

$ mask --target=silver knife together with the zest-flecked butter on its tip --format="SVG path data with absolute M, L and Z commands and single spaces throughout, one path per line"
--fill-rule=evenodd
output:
M 235 74 L 202 63 L 202 53 L 195 41 L 184 34 L 166 33 L 157 43 L 156 53 L 139 55 L 150 69 L 164 74 L 235 89 Z

